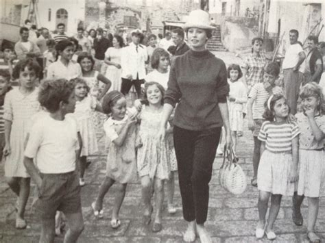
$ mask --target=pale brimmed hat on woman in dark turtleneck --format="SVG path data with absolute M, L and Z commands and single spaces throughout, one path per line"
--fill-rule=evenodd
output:
M 210 24 L 210 15 L 203 10 L 193 10 L 189 14 L 186 23 L 183 25 L 183 29 L 186 30 L 189 28 L 215 29 Z

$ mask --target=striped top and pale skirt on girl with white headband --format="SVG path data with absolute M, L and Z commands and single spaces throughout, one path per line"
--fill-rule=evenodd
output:
M 295 184 L 290 182 L 293 166 L 292 140 L 300 133 L 296 123 L 265 121 L 258 140 L 265 142 L 257 172 L 258 190 L 292 196 Z

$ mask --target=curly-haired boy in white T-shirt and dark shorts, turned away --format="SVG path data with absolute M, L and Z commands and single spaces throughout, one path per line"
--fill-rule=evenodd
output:
M 24 164 L 39 190 L 34 203 L 41 220 L 40 242 L 53 242 L 56 211 L 67 218 L 64 242 L 77 242 L 84 229 L 76 160 L 79 153 L 73 84 L 66 79 L 44 81 L 38 96 L 44 114 L 32 126 Z M 37 168 L 33 162 L 37 161 Z

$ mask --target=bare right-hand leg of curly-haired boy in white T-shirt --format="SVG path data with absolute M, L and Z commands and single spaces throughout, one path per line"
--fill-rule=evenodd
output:
M 82 218 L 82 212 L 75 214 L 66 214 L 69 229 L 64 236 L 64 243 L 77 242 L 80 234 L 84 230 L 84 219 Z

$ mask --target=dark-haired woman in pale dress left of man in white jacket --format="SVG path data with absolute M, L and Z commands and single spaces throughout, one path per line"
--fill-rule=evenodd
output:
M 123 38 L 115 35 L 112 40 L 113 47 L 109 47 L 105 53 L 105 63 L 108 65 L 105 77 L 112 81 L 110 90 L 121 91 L 121 51 Z

